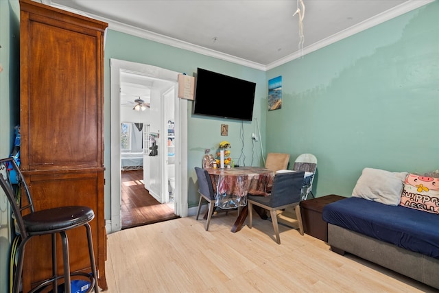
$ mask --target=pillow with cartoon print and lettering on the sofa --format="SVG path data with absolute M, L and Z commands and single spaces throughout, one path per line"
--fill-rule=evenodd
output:
M 439 178 L 409 174 L 400 204 L 403 207 L 439 213 Z

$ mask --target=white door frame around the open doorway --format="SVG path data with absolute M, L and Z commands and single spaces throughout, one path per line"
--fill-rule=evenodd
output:
M 111 231 L 121 230 L 120 71 L 141 73 L 178 83 L 178 72 L 152 65 L 110 59 L 111 141 Z M 176 89 L 178 92 L 178 89 Z M 187 216 L 187 108 L 186 99 L 175 100 L 176 110 L 176 198 L 174 213 Z

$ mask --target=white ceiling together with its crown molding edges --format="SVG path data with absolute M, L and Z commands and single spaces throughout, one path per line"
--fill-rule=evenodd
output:
M 111 30 L 270 69 L 434 0 L 40 0 L 109 23 Z

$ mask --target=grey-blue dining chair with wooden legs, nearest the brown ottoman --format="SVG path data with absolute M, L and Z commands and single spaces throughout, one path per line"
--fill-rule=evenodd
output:
M 300 215 L 300 191 L 302 189 L 305 172 L 285 172 L 274 176 L 272 192 L 269 196 L 247 196 L 248 213 L 250 216 L 249 228 L 252 228 L 253 205 L 270 211 L 277 244 L 281 244 L 276 211 L 287 207 L 294 207 L 299 224 L 300 235 L 303 235 L 302 217 Z

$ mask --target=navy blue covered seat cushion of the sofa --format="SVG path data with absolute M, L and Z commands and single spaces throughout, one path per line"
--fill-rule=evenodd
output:
M 439 215 L 345 198 L 324 206 L 325 222 L 439 259 Z

